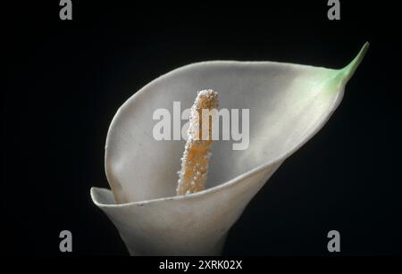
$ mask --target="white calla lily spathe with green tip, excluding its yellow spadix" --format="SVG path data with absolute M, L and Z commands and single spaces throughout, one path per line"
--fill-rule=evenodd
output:
M 368 49 L 332 70 L 281 62 L 197 62 L 171 71 L 130 97 L 113 118 L 105 170 L 113 192 L 92 187 L 133 255 L 214 255 L 247 203 L 289 155 L 338 107 Z M 249 146 L 214 141 L 206 189 L 175 195 L 185 140 L 156 141 L 153 112 L 188 108 L 198 90 L 220 93 L 220 107 L 249 109 Z M 115 202 L 115 198 L 120 203 Z

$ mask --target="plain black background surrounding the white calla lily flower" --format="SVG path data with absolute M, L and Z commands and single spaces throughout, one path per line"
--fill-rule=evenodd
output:
M 297 62 L 340 68 L 365 41 L 364 62 L 343 102 L 292 155 L 230 230 L 225 255 L 401 255 L 398 8 L 381 1 L 173 4 L 59 1 L 4 5 L 2 252 L 128 254 L 91 202 L 108 187 L 105 137 L 118 107 L 140 87 L 190 62 Z M 140 162 L 138 162 L 140 164 Z

